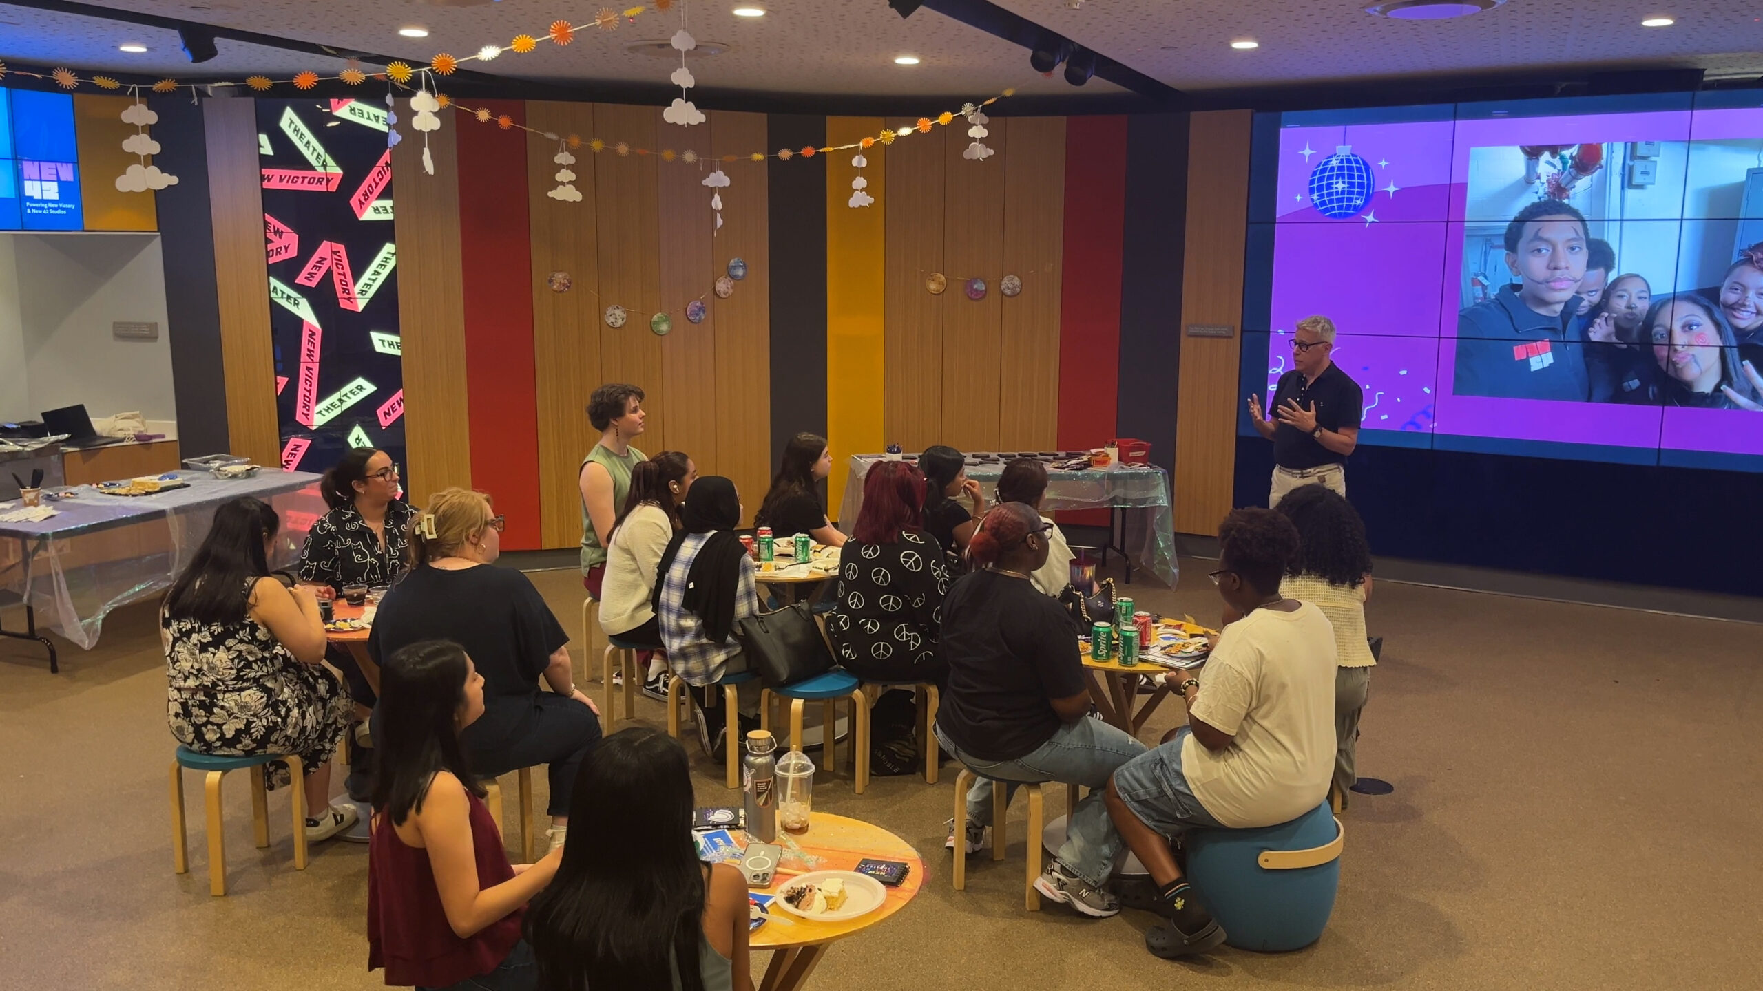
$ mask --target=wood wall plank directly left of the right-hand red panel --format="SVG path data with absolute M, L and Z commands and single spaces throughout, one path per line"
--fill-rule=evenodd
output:
M 987 136 L 987 145 L 991 138 Z M 998 446 L 1051 451 L 1060 439 L 1060 261 L 1065 250 L 1065 118 L 1010 120 L 1003 157 L 1003 273 L 998 347 Z M 1079 217 L 1075 222 L 1082 224 Z

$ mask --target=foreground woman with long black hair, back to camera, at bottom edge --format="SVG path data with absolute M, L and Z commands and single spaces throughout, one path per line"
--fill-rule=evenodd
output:
M 582 765 L 575 834 L 527 910 L 547 991 L 753 991 L 748 885 L 703 864 L 691 839 L 686 751 L 647 726 L 621 730 Z

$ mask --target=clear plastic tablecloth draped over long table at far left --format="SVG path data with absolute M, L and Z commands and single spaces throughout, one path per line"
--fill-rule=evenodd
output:
M 175 474 L 190 487 L 122 497 L 79 485 L 72 499 L 48 503 L 58 510 L 48 520 L 0 522 L 0 605 L 30 603 L 39 628 L 90 651 L 111 610 L 171 587 L 208 536 L 220 503 L 256 496 L 275 506 L 282 529 L 272 566 L 293 563 L 307 529 L 324 513 L 312 473 L 263 469 L 233 481 L 205 471 Z

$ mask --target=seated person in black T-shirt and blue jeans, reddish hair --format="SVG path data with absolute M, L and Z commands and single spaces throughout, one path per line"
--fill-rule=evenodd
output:
M 968 792 L 968 853 L 986 845 L 991 825 L 991 785 L 1058 781 L 1084 785 L 1067 823 L 1065 845 L 1035 880 L 1035 889 L 1093 917 L 1120 912 L 1104 890 L 1121 839 L 1109 823 L 1102 788 L 1116 767 L 1144 753 L 1144 744 L 1098 719 L 1086 718 L 1077 630 L 1056 600 L 1030 577 L 1047 563 L 1049 529 L 1023 503 L 986 513 L 968 543 L 964 575 L 943 601 L 943 658 L 948 689 L 936 711 L 936 739 L 978 774 Z M 1038 843 L 1040 838 L 1030 838 Z

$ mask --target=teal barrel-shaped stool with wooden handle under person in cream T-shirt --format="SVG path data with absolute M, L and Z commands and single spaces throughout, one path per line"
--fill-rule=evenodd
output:
M 1232 947 L 1296 950 L 1322 938 L 1345 838 L 1326 802 L 1264 829 L 1194 829 L 1186 834 L 1188 880 Z

